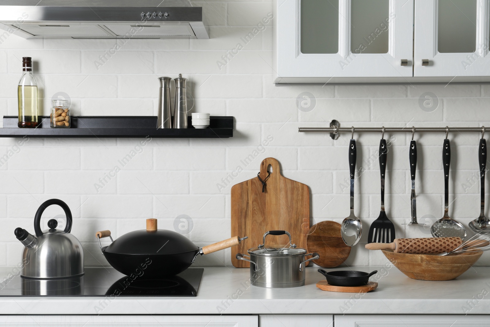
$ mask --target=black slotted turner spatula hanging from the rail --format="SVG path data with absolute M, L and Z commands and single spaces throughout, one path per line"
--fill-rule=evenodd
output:
M 395 239 L 395 226 L 385 212 L 385 173 L 388 147 L 386 140 L 379 142 L 379 172 L 381 175 L 381 211 L 378 218 L 369 227 L 368 243 L 392 243 Z

